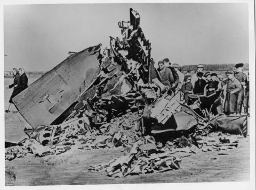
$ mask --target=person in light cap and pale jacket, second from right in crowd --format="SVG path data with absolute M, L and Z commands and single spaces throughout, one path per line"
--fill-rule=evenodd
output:
M 238 92 L 242 89 L 241 83 L 236 79 L 235 72 L 229 70 L 227 72 L 228 79 L 222 81 L 222 86 L 227 84 L 227 94 L 224 103 L 224 111 L 227 115 L 236 113 Z

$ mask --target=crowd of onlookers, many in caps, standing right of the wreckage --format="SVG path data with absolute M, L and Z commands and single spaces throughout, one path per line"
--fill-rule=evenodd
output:
M 213 104 L 212 113 L 214 115 L 241 115 L 242 106 L 244 113 L 248 113 L 249 107 L 249 80 L 243 73 L 243 64 L 235 65 L 236 71 L 227 71 L 227 78 L 218 77 L 217 73 L 203 72 L 204 65 L 197 65 L 197 71 L 190 75 L 181 73 L 178 64 L 171 64 L 168 58 L 158 62 L 158 73 L 161 82 L 167 87 L 168 94 L 181 90 L 185 103 L 188 103 L 189 94 L 209 97 L 215 91 L 222 89 L 226 85 L 225 103 L 219 97 Z M 249 75 L 249 74 L 248 74 Z

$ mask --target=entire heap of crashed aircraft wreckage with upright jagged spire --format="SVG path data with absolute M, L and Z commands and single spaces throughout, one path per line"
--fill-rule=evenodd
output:
M 238 139 L 247 135 L 247 116 L 210 118 L 207 98 L 186 106 L 177 101 L 179 90 L 171 96 L 161 94 L 163 86 L 150 57 L 150 43 L 140 28 L 140 15 L 131 8 L 130 22 L 118 25 L 123 40 L 110 37 L 110 48 L 98 45 L 70 52 L 65 61 L 13 99 L 33 129 L 25 128 L 28 139 L 5 149 L 5 160 L 28 153 L 60 154 L 73 147 L 123 146 L 123 157 L 90 170 L 124 177 L 179 169 L 181 159 L 191 153 L 225 154 L 237 147 Z M 216 94 L 217 99 L 220 93 Z

